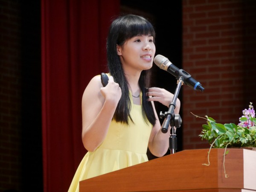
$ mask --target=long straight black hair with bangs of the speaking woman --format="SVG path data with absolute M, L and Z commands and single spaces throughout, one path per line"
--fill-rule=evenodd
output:
M 122 63 L 117 55 L 116 45 L 122 46 L 125 41 L 137 35 L 151 35 L 155 40 L 155 31 L 152 24 L 144 17 L 138 15 L 125 15 L 116 18 L 109 29 L 107 39 L 108 70 L 116 83 L 122 90 L 122 96 L 116 107 L 113 119 L 128 125 L 131 119 L 131 100 L 129 97 L 128 82 L 122 68 Z M 142 113 L 146 122 L 152 125 L 156 122 L 156 117 L 151 105 L 147 101 L 146 87 L 150 86 L 150 70 L 143 70 L 139 79 L 139 86 L 142 91 Z M 148 120 L 148 121 L 147 121 Z M 133 122 L 133 120 L 131 119 Z

